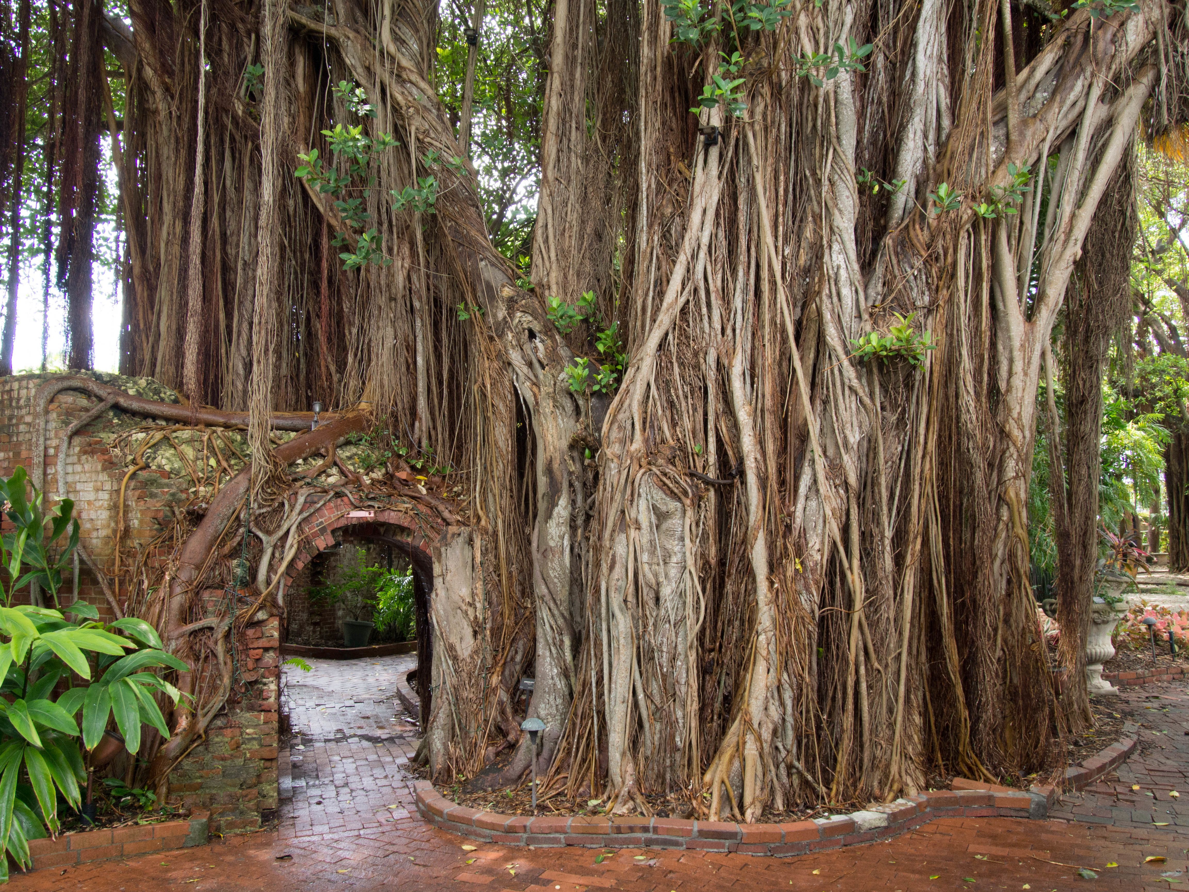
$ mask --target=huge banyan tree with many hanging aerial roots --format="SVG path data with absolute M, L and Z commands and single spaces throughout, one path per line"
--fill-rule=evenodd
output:
M 376 431 L 454 519 L 434 777 L 517 783 L 526 715 L 546 791 L 621 814 L 665 794 L 755 821 L 1053 765 L 1078 718 L 1028 585 L 1038 382 L 1088 237 L 1128 213 L 1135 142 L 1187 120 L 1183 6 L 49 17 L 27 169 L 56 196 L 71 363 L 102 156 L 121 371 L 208 423 L 246 413 L 251 467 L 162 592 L 172 647 L 241 505 L 279 523 L 289 463 Z M 524 169 L 479 163 L 493 142 Z M 276 446 L 314 400 L 333 421 Z M 1069 635 L 1090 572 L 1069 572 Z M 195 734 L 172 721 L 165 761 Z

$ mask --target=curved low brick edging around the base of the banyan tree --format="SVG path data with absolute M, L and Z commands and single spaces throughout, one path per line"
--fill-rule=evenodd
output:
M 1122 737 L 1065 769 L 1065 790 L 1081 790 L 1122 764 L 1138 746 Z M 482 842 L 508 846 L 584 846 L 587 848 L 667 848 L 738 852 L 788 858 L 820 849 L 857 846 L 913 830 L 939 817 L 1019 817 L 1043 819 L 1061 790 L 1033 785 L 1021 790 L 936 790 L 873 805 L 850 815 L 832 815 L 786 824 L 736 824 L 659 817 L 509 816 L 455 805 L 428 780 L 413 784 L 417 812 L 434 827 Z

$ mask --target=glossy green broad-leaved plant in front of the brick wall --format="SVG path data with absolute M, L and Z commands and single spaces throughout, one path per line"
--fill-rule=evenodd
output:
M 20 467 L 0 478 L 4 513 L 14 527 L 0 540 L 7 571 L 0 607 L 0 880 L 8 875 L 6 853 L 27 867 L 29 841 L 58 833 L 59 800 L 80 809 L 90 753 L 113 718 L 133 754 L 141 724 L 169 736 L 156 695 L 174 703 L 181 695 L 153 670 L 188 668 L 163 651 L 144 620 L 103 623 L 92 604 L 61 605 L 62 573 L 78 542 L 74 503 L 63 500 L 45 517 L 42 495 L 33 489 L 26 498 L 26 483 Z M 58 609 L 13 605 L 32 582 Z

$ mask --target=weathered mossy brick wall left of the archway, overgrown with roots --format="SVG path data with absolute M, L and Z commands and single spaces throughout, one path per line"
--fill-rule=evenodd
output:
M 114 376 L 102 377 L 120 385 Z M 17 465 L 33 471 L 33 394 L 43 376 L 21 375 L 0 378 L 0 475 L 7 477 Z M 147 385 L 153 398 L 161 385 L 147 379 L 126 379 Z M 56 498 L 57 451 L 65 429 L 97 401 L 88 395 L 64 391 L 46 413 L 45 500 Z M 108 444 L 121 427 L 147 420 L 108 410 L 80 431 L 71 441 L 67 463 L 67 496 L 75 501 L 80 541 L 105 571 L 115 563 L 115 527 L 119 517 L 120 484 L 127 472 L 125 460 Z M 121 565 L 134 566 L 144 557 L 147 567 L 158 567 L 169 553 L 153 552 L 150 542 L 161 533 L 163 521 L 190 497 L 190 479 L 171 478 L 166 471 L 144 469 L 132 475 L 125 486 L 124 529 L 120 539 Z M 120 583 L 126 585 L 126 580 Z M 65 580 L 64 592 L 71 591 Z M 121 609 L 126 591 L 118 590 Z M 205 592 L 208 609 L 224 597 Z M 101 586 L 83 564 L 78 595 L 94 604 L 106 620 L 114 616 Z M 23 598 L 27 603 L 27 593 Z M 64 601 L 73 598 L 65 595 Z M 259 827 L 262 812 L 277 808 L 277 677 L 279 621 L 269 617 L 244 629 L 237 641 L 237 689 L 227 708 L 210 724 L 205 743 L 195 747 L 170 775 L 172 802 L 210 810 L 210 829 L 227 834 Z M 201 690 L 201 687 L 200 687 Z

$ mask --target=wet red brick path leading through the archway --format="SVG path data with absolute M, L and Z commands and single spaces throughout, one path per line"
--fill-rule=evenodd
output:
M 65 872 L 39 871 L 17 877 L 13 888 L 1065 892 L 1084 886 L 1150 892 L 1175 890 L 1189 881 L 1182 835 L 1189 827 L 1182 829 L 1174 819 L 1137 819 L 1131 803 L 1126 817 L 1111 812 L 1111 808 L 1122 806 L 1107 806 L 1111 815 L 1095 816 L 1100 821 L 1078 814 L 1113 803 L 1115 793 L 1122 797 L 1120 786 L 1134 792 L 1132 783 L 1141 790 L 1146 783 L 1155 784 L 1155 798 L 1140 802 L 1149 809 L 1145 814 L 1157 814 L 1153 805 L 1157 810 L 1176 806 L 1175 799 L 1165 802 L 1168 790 L 1176 789 L 1169 772 L 1179 778 L 1189 765 L 1189 742 L 1182 733 L 1189 728 L 1189 698 L 1176 686 L 1152 686 L 1132 695 L 1133 706 L 1145 715 L 1140 754 L 1120 769 L 1118 780 L 1071 798 L 1068 819 L 945 818 L 888 842 L 797 859 L 619 849 L 596 862 L 599 850 L 594 849 L 485 843 L 467 852 L 463 846 L 471 844 L 468 841 L 426 825 L 413 811 L 411 791 L 400 767 L 415 747 L 411 725 L 390 722 L 397 710 L 386 695 L 386 683 L 400 666 L 386 661 L 334 664 L 323 671 L 323 662 L 328 661 L 317 661 L 315 673 L 289 687 L 294 727 L 301 733 L 301 743 L 295 746 L 306 748 L 294 750 L 302 761 L 294 764 L 292 798 L 282 805 L 278 831 Z M 327 695 L 321 704 L 310 702 L 320 696 L 315 689 Z M 356 705 L 345 706 L 341 699 L 335 705 L 332 692 L 336 697 L 350 695 Z M 1150 695 L 1160 699 L 1149 701 Z M 1155 708 L 1146 709 L 1149 705 Z M 382 739 L 382 734 L 390 736 Z M 1158 825 L 1164 823 L 1168 827 Z M 1145 862 L 1149 856 L 1166 860 Z M 1080 878 L 1078 867 L 1095 871 L 1097 879 Z

